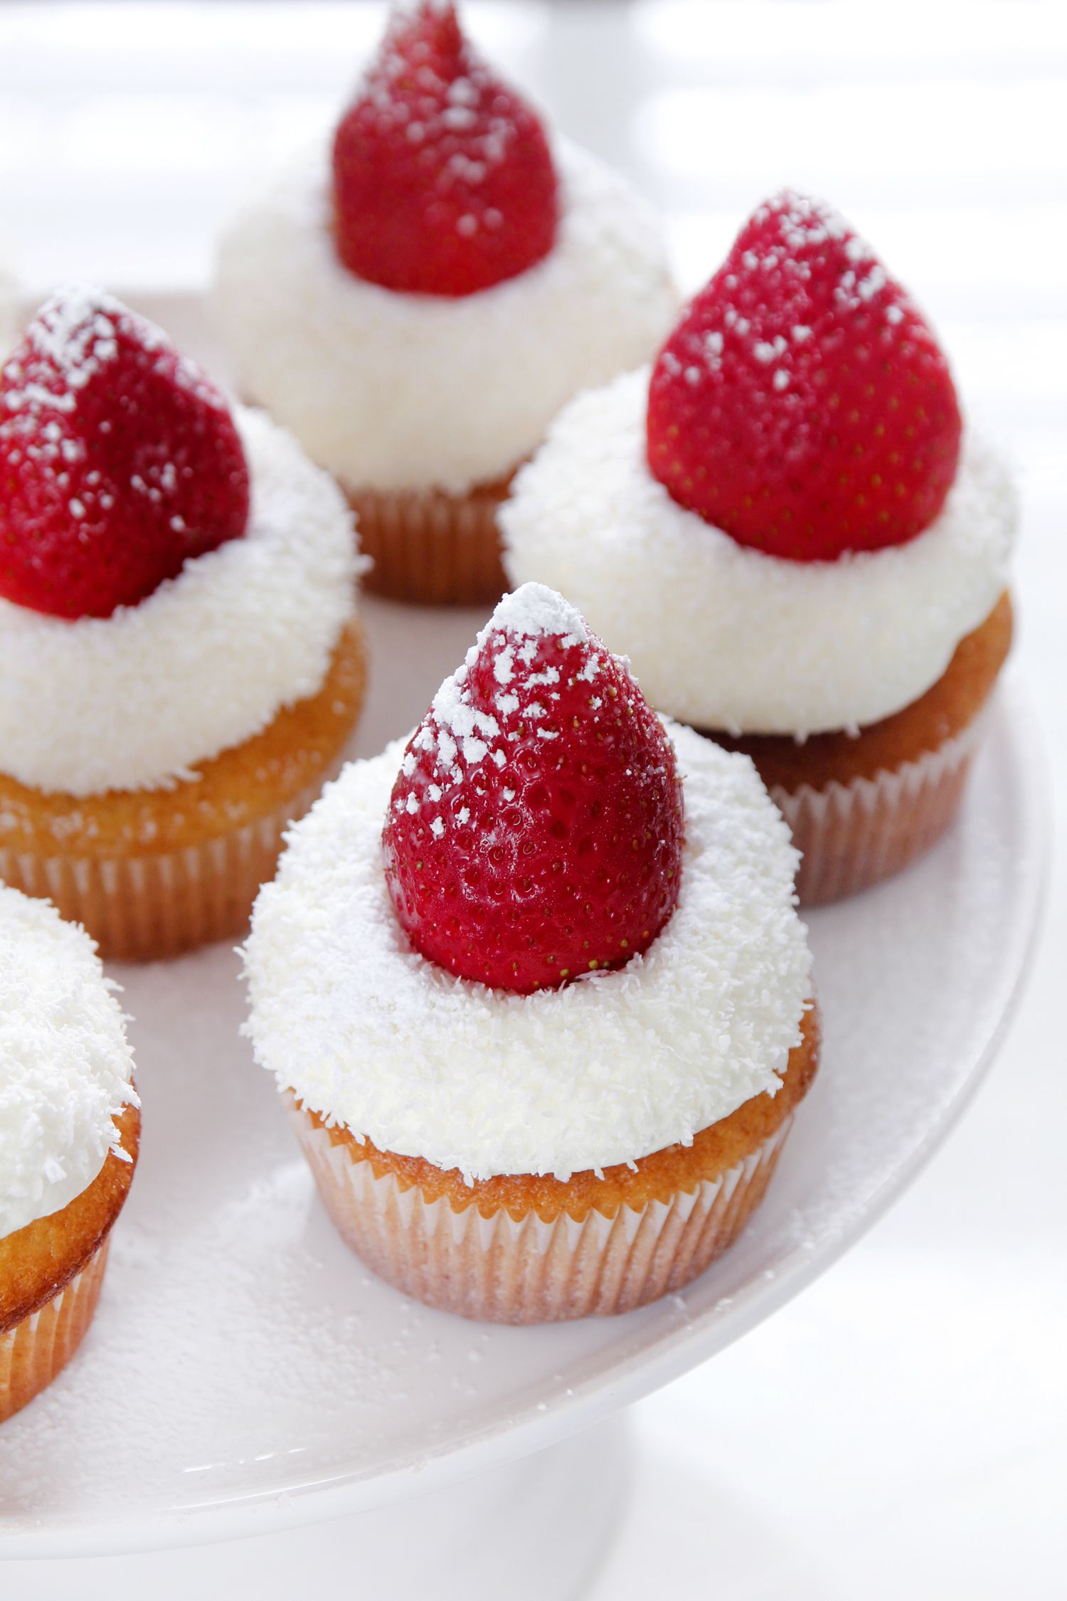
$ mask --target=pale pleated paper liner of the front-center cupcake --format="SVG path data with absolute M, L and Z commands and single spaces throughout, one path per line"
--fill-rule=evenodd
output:
M 763 1199 L 789 1114 L 734 1167 L 693 1191 L 614 1215 L 542 1222 L 483 1217 L 472 1202 L 426 1201 L 418 1185 L 376 1177 L 330 1130 L 290 1101 L 318 1193 L 346 1242 L 397 1289 L 442 1311 L 486 1322 L 557 1322 L 630 1311 L 680 1290 L 737 1238 Z

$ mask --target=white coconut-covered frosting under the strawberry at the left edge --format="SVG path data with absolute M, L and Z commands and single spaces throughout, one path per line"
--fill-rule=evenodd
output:
M 352 514 L 259 411 L 235 410 L 248 530 L 136 607 L 67 621 L 0 599 L 0 770 L 85 796 L 189 778 L 314 695 L 355 604 Z

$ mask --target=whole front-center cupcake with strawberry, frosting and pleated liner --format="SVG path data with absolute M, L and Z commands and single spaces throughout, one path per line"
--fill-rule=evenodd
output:
M 688 1284 L 817 1060 L 797 855 L 558 594 L 504 597 L 419 728 L 293 829 L 248 1031 L 384 1279 L 499 1322 Z

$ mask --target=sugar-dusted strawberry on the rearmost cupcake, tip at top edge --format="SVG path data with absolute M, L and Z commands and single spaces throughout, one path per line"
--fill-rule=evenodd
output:
M 552 250 L 557 178 L 541 122 L 480 61 L 456 8 L 397 10 L 333 146 L 344 266 L 413 295 L 474 295 Z

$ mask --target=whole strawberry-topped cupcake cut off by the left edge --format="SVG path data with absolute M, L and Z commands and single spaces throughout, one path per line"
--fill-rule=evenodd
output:
M 352 516 L 98 291 L 0 371 L 0 879 L 106 957 L 238 935 L 363 698 Z

